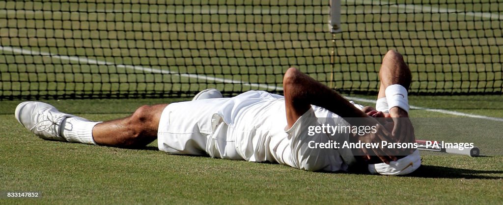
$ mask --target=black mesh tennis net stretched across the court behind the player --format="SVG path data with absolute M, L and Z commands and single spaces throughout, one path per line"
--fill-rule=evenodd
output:
M 0 98 L 184 97 L 282 91 L 297 67 L 343 93 L 375 93 L 402 53 L 410 92 L 502 93 L 503 3 L 0 1 Z

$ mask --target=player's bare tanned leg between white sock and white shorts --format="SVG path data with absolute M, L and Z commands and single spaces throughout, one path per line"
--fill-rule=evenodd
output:
M 93 129 L 94 140 L 105 146 L 145 146 L 157 138 L 160 115 L 166 106 L 144 105 L 129 117 L 97 124 Z

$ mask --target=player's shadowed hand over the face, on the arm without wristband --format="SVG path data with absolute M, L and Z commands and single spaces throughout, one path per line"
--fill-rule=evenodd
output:
M 396 139 L 393 138 L 391 133 L 386 130 L 386 128 L 381 125 L 376 119 L 372 117 L 366 117 L 366 118 L 360 118 L 363 122 L 362 124 L 365 124 L 366 126 L 376 126 L 376 132 L 375 133 L 366 133 L 365 135 L 357 135 L 357 138 L 359 141 L 363 143 L 375 143 L 378 144 L 379 146 L 377 147 L 372 147 L 372 148 L 367 148 L 367 147 L 362 147 L 361 152 L 364 155 L 364 158 L 366 157 L 367 160 L 371 160 L 372 156 L 375 155 L 377 156 L 380 161 L 384 163 L 389 163 L 390 161 L 396 161 L 397 158 L 394 155 L 394 151 L 392 149 L 385 147 L 382 147 L 381 144 L 383 141 L 386 142 L 395 142 Z M 359 125 L 361 126 L 361 125 Z

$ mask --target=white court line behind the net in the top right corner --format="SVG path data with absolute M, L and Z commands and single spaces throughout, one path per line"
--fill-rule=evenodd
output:
M 486 19 L 492 19 L 492 20 L 503 20 L 503 15 L 499 14 L 493 14 L 493 13 L 487 13 L 487 12 L 466 12 L 466 11 L 461 11 L 461 10 L 456 10 L 456 9 L 445 9 L 445 8 L 440 8 L 440 7 L 431 7 L 431 6 L 424 6 L 424 5 L 414 5 L 414 4 L 395 4 L 395 3 L 390 3 L 386 1 L 380 1 L 380 2 L 375 2 L 372 0 L 346 0 L 346 2 L 352 2 L 355 3 L 355 6 L 359 6 L 358 4 L 361 5 L 371 5 L 371 6 L 381 6 L 381 7 L 390 7 L 390 8 L 395 8 L 400 10 L 405 10 L 408 12 L 423 12 L 426 14 L 429 13 L 436 13 L 436 14 L 456 14 L 456 15 L 463 15 L 463 16 L 468 16 L 468 17 L 479 17 L 479 18 L 486 18 Z

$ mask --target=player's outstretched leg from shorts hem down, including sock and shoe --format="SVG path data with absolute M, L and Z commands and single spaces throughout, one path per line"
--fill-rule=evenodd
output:
M 163 105 L 142 106 L 130 117 L 108 122 L 62 113 L 43 102 L 22 102 L 16 119 L 42 139 L 118 147 L 144 146 L 157 136 Z

